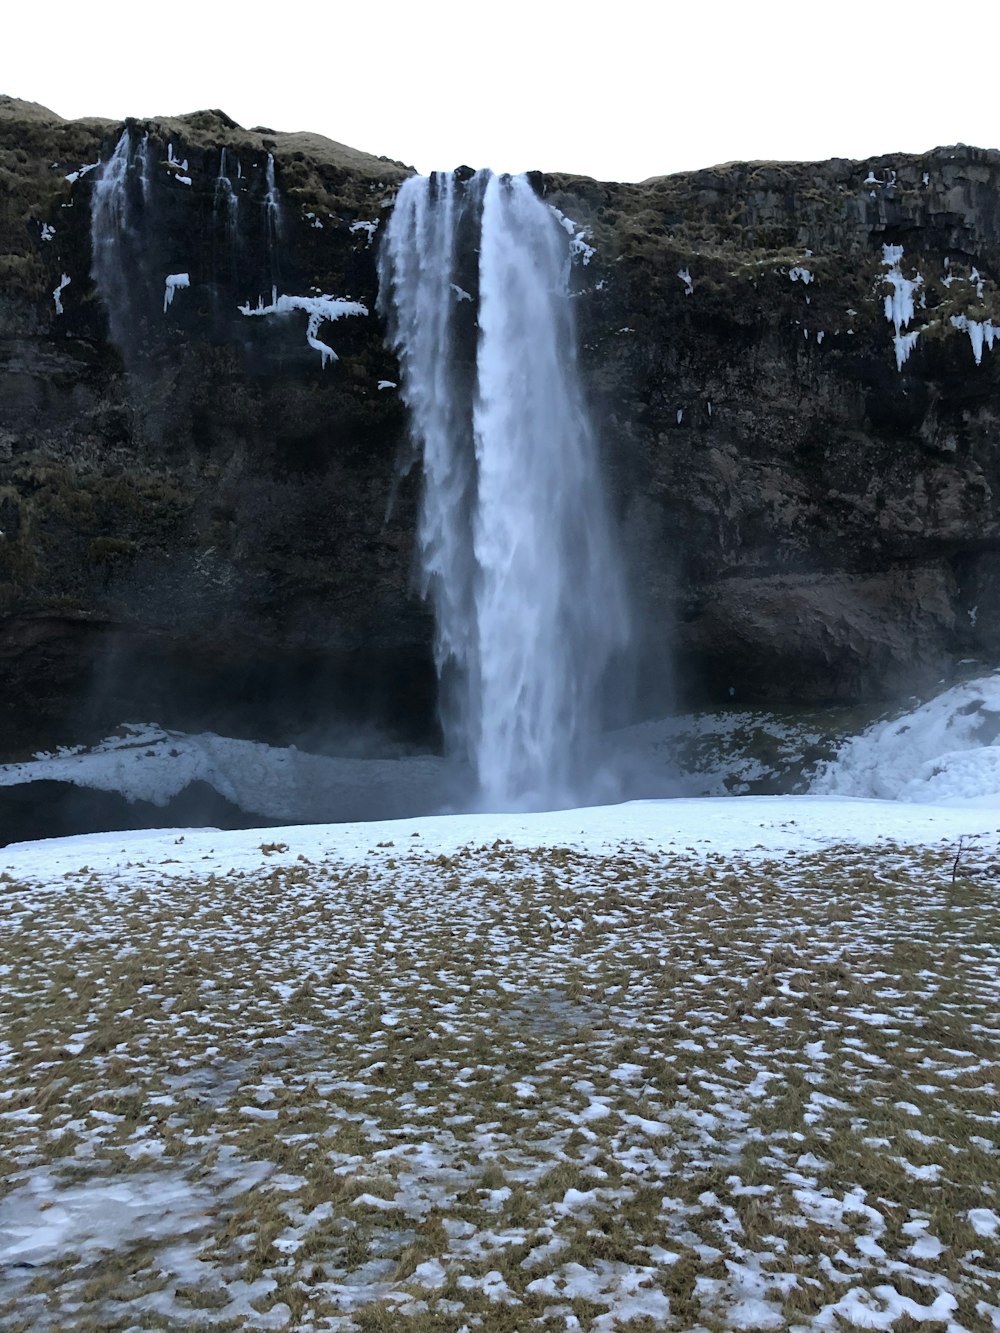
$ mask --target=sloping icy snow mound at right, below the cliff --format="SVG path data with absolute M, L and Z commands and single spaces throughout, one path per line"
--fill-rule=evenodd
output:
M 820 769 L 811 790 L 895 801 L 1000 797 L 1000 672 L 873 722 Z

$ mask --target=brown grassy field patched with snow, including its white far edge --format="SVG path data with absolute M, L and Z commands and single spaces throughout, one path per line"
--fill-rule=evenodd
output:
M 1000 1329 L 999 841 L 787 797 L 8 846 L 0 1326 Z

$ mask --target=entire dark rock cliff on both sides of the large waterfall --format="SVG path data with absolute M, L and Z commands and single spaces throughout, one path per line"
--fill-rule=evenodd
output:
M 87 168 L 116 145 L 128 243 L 101 295 Z M 220 112 L 121 127 L 0 99 L 8 754 L 123 716 L 432 734 L 419 479 L 376 313 L 405 173 Z M 995 659 L 1000 153 L 536 187 L 584 229 L 647 684 L 855 700 Z

